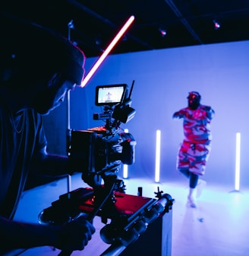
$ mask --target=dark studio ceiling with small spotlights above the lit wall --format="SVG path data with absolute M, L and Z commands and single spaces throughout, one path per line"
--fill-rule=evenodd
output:
M 5 14 L 65 37 L 71 21 L 70 38 L 87 57 L 100 56 L 131 15 L 133 24 L 110 54 L 249 40 L 249 0 L 6 0 L 0 5 Z

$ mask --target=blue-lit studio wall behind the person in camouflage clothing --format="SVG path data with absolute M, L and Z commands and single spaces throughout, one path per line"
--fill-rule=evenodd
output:
M 87 59 L 87 71 L 96 59 Z M 161 181 L 179 179 L 175 158 L 182 139 L 181 120 L 175 110 L 187 106 L 188 91 L 199 91 L 202 104 L 216 110 L 213 149 L 206 167 L 206 181 L 234 186 L 235 134 L 241 132 L 241 187 L 249 186 L 248 82 L 249 41 L 190 46 L 108 56 L 85 88 L 71 92 L 71 128 L 102 125 L 93 120 L 96 85 L 135 81 L 132 107 L 137 113 L 123 128 L 137 141 L 136 162 L 129 177 L 154 180 L 156 130 L 162 130 Z M 49 152 L 65 154 L 66 104 L 45 117 Z M 182 178 L 181 178 L 182 179 Z

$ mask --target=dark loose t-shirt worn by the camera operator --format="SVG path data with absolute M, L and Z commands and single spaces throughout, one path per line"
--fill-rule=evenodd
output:
M 22 110 L 15 116 L 5 109 L 0 104 L 0 152 L 5 152 L 0 156 L 1 181 L 5 181 L 0 187 L 0 213 L 12 219 L 24 190 L 30 162 L 36 152 L 46 147 L 46 137 L 42 117 L 34 110 Z

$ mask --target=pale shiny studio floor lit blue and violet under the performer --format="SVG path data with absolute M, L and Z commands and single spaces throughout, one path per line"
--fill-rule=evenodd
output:
M 155 197 L 154 192 L 159 187 L 159 190 L 175 199 L 172 209 L 172 256 L 244 256 L 249 253 L 249 190 L 238 192 L 206 184 L 197 200 L 197 208 L 191 208 L 186 205 L 186 184 L 155 184 L 142 179 L 124 180 L 124 183 L 126 194 L 137 195 L 137 187 L 143 187 L 144 197 Z M 78 174 L 71 178 L 71 186 L 72 190 L 86 187 Z M 66 192 L 66 178 L 27 190 L 18 207 L 16 219 L 38 222 L 37 216 L 41 210 Z M 98 217 L 94 219 L 94 225 L 96 233 L 92 240 L 84 251 L 74 251 L 72 256 L 99 256 L 109 247 L 99 237 L 103 224 Z M 42 247 L 25 251 L 21 256 L 58 255 L 59 252 Z

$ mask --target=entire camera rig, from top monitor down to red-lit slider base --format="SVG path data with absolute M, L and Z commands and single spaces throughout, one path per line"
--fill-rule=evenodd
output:
M 131 91 L 133 86 L 134 82 Z M 148 224 L 169 213 L 174 202 L 169 194 L 162 194 L 159 189 L 157 199 L 125 194 L 124 182 L 118 180 L 121 163 L 134 163 L 136 141 L 131 133 L 124 133 L 120 128 L 121 123 L 128 123 L 135 114 L 131 91 L 128 94 L 124 84 L 96 87 L 95 103 L 104 111 L 93 114 L 93 120 L 106 120 L 106 124 L 71 130 L 68 147 L 69 158 L 80 166 L 81 177 L 90 187 L 62 194 L 39 214 L 39 222 L 49 225 L 70 222 L 82 215 L 90 221 L 100 216 L 106 224 L 100 236 L 111 245 L 102 254 L 106 256 L 119 255 L 147 230 Z M 109 224 L 108 219 L 111 219 Z M 71 255 L 71 251 L 61 251 L 59 255 Z

